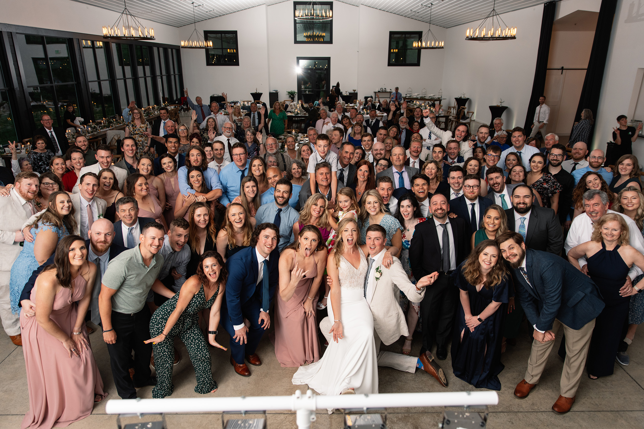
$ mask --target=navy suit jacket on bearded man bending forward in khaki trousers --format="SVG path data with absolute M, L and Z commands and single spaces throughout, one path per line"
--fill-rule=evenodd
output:
M 526 272 L 532 286 L 519 269 L 513 271 L 518 280 L 516 295 L 527 320 L 540 331 L 552 329 L 555 318 L 571 329 L 582 329 L 604 307 L 591 278 L 553 253 L 526 250 Z

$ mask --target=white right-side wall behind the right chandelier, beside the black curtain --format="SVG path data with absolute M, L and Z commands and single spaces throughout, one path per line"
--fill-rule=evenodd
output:
M 468 111 L 474 111 L 478 122 L 493 119 L 489 105 L 500 98 L 508 109 L 504 112 L 504 128 L 522 127 L 535 78 L 536 54 L 539 47 L 541 18 L 544 6 L 502 14 L 508 26 L 516 26 L 513 41 L 466 41 L 469 28 L 480 21 L 448 28 L 445 38 L 445 60 L 442 78 L 444 105 L 453 105 L 454 97 L 469 97 Z

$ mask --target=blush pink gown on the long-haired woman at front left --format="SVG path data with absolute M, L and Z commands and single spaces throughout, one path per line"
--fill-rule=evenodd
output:
M 73 289 L 62 288 L 53 298 L 50 315 L 70 337 L 78 315 L 76 302 L 85 295 L 87 282 L 78 275 L 72 285 Z M 36 288 L 33 288 L 33 302 L 35 297 Z M 47 333 L 35 316 L 27 317 L 24 311 L 20 315 L 20 328 L 29 388 L 29 411 L 21 428 L 65 427 L 90 415 L 94 396 L 108 396 L 91 348 L 81 356 L 72 354 L 70 358 L 62 343 Z M 85 325 L 82 335 L 89 343 Z

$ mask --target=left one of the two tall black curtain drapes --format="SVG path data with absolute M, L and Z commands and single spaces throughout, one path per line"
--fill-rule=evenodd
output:
M 539 50 L 536 54 L 535 81 L 532 84 L 530 104 L 527 106 L 526 125 L 524 125 L 524 129 L 526 129 L 528 134 L 530 133 L 530 125 L 535 122 L 535 109 L 539 104 L 539 97 L 544 95 L 545 72 L 548 68 L 550 39 L 553 37 L 553 22 L 556 5 L 556 1 L 544 3 L 544 15 L 541 18 L 541 35 L 539 36 Z

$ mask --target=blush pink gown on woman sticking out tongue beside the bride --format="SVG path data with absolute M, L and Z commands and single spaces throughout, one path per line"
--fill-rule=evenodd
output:
M 307 317 L 304 311 L 304 302 L 317 275 L 317 264 L 310 271 L 299 280 L 290 300 L 281 298 L 279 288 L 275 291 L 275 356 L 282 367 L 300 367 L 320 358 L 316 316 Z M 313 300 L 314 309 L 316 305 L 317 297 Z

